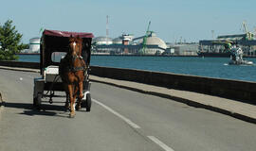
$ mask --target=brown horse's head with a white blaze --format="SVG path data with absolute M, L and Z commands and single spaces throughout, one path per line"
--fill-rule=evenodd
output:
M 69 53 L 72 56 L 81 56 L 82 53 L 82 38 L 69 37 Z

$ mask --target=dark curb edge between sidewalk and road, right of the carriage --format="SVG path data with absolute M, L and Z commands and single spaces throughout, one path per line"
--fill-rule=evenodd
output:
M 163 98 L 172 99 L 176 102 L 187 104 L 188 106 L 192 106 L 192 107 L 195 107 L 195 108 L 209 109 L 211 111 L 226 114 L 226 115 L 229 115 L 231 117 L 234 117 L 234 118 L 237 118 L 237 119 L 240 119 L 240 120 L 252 123 L 252 124 L 256 124 L 256 119 L 252 118 L 252 117 L 249 117 L 247 115 L 243 115 L 243 114 L 240 114 L 240 113 L 237 113 L 237 112 L 233 112 L 233 111 L 230 111 L 228 109 L 221 109 L 221 108 L 201 104 L 201 103 L 195 102 L 193 100 L 182 98 L 182 97 L 177 97 L 177 96 L 174 96 L 174 95 L 171 95 L 171 94 L 160 93 L 160 92 L 147 92 L 147 91 L 143 91 L 143 90 L 140 90 L 140 89 L 137 89 L 137 88 L 134 88 L 134 87 L 123 86 L 123 85 L 119 85 L 119 84 L 115 84 L 115 83 L 111 83 L 111 82 L 105 82 L 105 81 L 101 81 L 101 80 L 95 80 L 95 79 L 91 79 L 91 81 L 99 82 L 99 83 L 103 83 L 103 84 L 108 84 L 108 85 L 112 85 L 112 86 L 115 86 L 115 87 L 131 90 L 131 91 L 135 91 L 135 92 L 142 92 L 142 93 L 147 93 L 147 94 L 151 94 L 151 95 L 155 95 L 155 96 L 159 96 L 159 97 L 163 97 Z

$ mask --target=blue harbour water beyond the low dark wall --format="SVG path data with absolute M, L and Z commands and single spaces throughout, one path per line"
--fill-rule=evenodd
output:
M 40 56 L 19 55 L 19 61 L 39 62 Z M 92 56 L 90 65 L 256 82 L 256 65 L 229 65 L 229 58 Z

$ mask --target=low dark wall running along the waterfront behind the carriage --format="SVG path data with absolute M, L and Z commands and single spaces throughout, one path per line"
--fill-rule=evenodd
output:
M 39 69 L 39 63 L 0 61 L 1 66 Z M 91 66 L 90 75 L 135 81 L 170 89 L 201 92 L 256 104 L 256 83 L 133 69 Z

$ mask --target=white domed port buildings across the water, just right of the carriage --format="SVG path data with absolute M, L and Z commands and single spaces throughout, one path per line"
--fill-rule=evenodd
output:
M 146 40 L 145 40 L 146 39 Z M 161 55 L 167 48 L 166 43 L 156 37 L 153 31 L 145 36 L 134 38 L 123 34 L 115 39 L 97 37 L 93 39 L 93 54 L 109 55 Z

